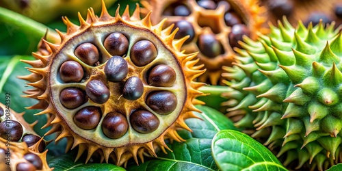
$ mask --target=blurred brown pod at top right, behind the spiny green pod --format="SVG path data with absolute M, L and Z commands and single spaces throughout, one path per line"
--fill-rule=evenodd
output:
M 265 0 L 265 7 L 269 11 L 269 18 L 273 23 L 287 16 L 292 25 L 296 25 L 298 20 L 304 25 L 312 22 L 317 25 L 322 19 L 323 23 L 337 21 L 337 25 L 342 23 L 342 18 L 338 13 L 338 6 L 342 5 L 341 0 L 316 1 L 316 0 Z

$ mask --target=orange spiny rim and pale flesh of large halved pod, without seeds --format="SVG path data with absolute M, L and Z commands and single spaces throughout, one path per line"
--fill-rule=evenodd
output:
M 120 166 L 127 162 L 128 159 L 133 157 L 137 162 L 137 156 L 143 160 L 143 153 L 150 153 L 150 155 L 155 156 L 155 146 L 160 146 L 163 151 L 166 146 L 164 139 L 168 138 L 170 140 L 176 140 L 177 142 L 184 141 L 176 133 L 176 129 L 182 128 L 187 129 L 187 124 L 185 124 L 186 118 L 196 118 L 192 111 L 198 111 L 194 105 L 201 104 L 202 102 L 196 100 L 196 96 L 201 96 L 202 92 L 197 89 L 203 86 L 204 83 L 198 83 L 193 81 L 205 72 L 205 70 L 200 70 L 202 66 L 195 66 L 198 62 L 193 60 L 196 57 L 196 53 L 185 54 L 180 51 L 185 38 L 180 40 L 174 40 L 174 35 L 176 31 L 172 31 L 172 27 L 167 27 L 163 29 L 163 24 L 165 21 L 157 25 L 152 25 L 150 22 L 150 14 L 146 18 L 140 18 L 140 8 L 137 8 L 130 16 L 129 7 L 120 16 L 116 10 L 116 16 L 110 16 L 103 3 L 103 9 L 101 16 L 96 16 L 92 9 L 88 10 L 88 15 L 86 20 L 84 20 L 81 15 L 79 15 L 79 20 L 81 25 L 77 26 L 67 18 L 64 18 L 64 23 L 67 25 L 67 32 L 59 34 L 61 36 L 60 44 L 53 44 L 42 40 L 38 45 L 39 51 L 33 53 L 37 58 L 35 61 L 24 61 L 30 64 L 32 68 L 29 68 L 31 75 L 21 77 L 31 83 L 29 86 L 34 87 L 32 90 L 27 91 L 27 97 L 38 99 L 39 103 L 30 107 L 31 109 L 44 109 L 39 114 L 47 114 L 49 116 L 49 121 L 46 127 L 52 125 L 51 131 L 47 135 L 57 132 L 58 137 L 56 141 L 67 137 L 68 146 L 67 150 L 70 148 L 75 148 L 79 146 L 79 153 L 77 154 L 77 159 L 82 155 L 85 150 L 88 150 L 88 157 L 86 162 L 89 161 L 93 153 L 99 153 L 102 158 L 101 161 L 106 162 L 109 159 L 114 159 L 116 165 Z M 108 81 L 105 77 L 105 64 L 107 60 L 111 57 L 108 51 L 103 46 L 103 40 L 112 32 L 119 31 L 124 34 L 131 44 L 138 40 L 144 39 L 153 43 L 153 46 L 157 48 L 157 57 L 154 58 L 149 64 L 144 64 L 144 66 L 136 66 L 130 60 L 131 49 L 128 49 L 128 53 L 122 55 L 125 62 L 128 64 L 129 73 L 127 77 L 120 81 L 119 83 Z M 96 36 L 94 36 L 96 35 Z M 73 54 L 75 47 L 83 42 L 91 42 L 94 44 L 98 50 L 101 52 L 101 57 L 99 58 L 95 66 L 88 66 L 80 62 L 79 59 Z M 75 60 L 79 62 L 85 70 L 86 77 L 83 77 L 82 81 L 75 83 L 64 83 L 58 77 L 57 68 L 68 60 Z M 168 64 L 176 70 L 176 81 L 170 88 L 165 87 L 155 87 L 149 86 L 147 84 L 148 72 L 150 68 L 157 64 Z M 123 83 L 129 77 L 139 77 L 143 82 L 144 92 L 140 98 L 137 99 L 127 99 L 122 96 Z M 107 86 L 110 91 L 109 100 L 105 101 L 103 104 L 96 103 L 90 98 L 86 99 L 87 102 L 77 107 L 77 109 L 68 110 L 64 108 L 58 94 L 62 88 L 71 86 L 77 87 L 81 90 L 85 89 L 86 84 L 90 80 L 100 80 L 105 86 Z M 177 95 L 178 103 L 176 109 L 171 114 L 162 116 L 157 114 L 152 109 L 146 105 L 146 96 L 150 92 L 156 90 L 167 90 L 173 92 Z M 94 90 L 95 91 L 95 90 Z M 73 121 L 73 115 L 83 107 L 95 106 L 101 109 L 101 117 L 104 118 L 110 112 L 118 112 L 126 118 L 126 122 L 129 123 L 128 131 L 123 133 L 118 133 L 115 136 L 106 136 L 102 129 L 102 121 L 98 123 L 96 129 L 84 130 L 77 127 Z M 138 133 L 134 131 L 129 122 L 130 114 L 137 110 L 143 109 L 153 113 L 157 116 L 157 120 L 161 124 L 156 130 L 152 130 L 148 133 Z M 86 117 L 86 116 L 85 116 Z M 112 129 L 109 125 L 106 128 Z M 124 130 L 125 129 L 118 129 Z M 110 157 L 110 158 L 109 158 Z

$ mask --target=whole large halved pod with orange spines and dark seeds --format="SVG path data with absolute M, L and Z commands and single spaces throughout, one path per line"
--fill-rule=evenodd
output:
M 132 16 L 128 6 L 122 16 L 118 11 L 110 16 L 103 4 L 98 17 L 90 9 L 86 20 L 79 15 L 80 26 L 64 17 L 61 43 L 42 40 L 37 60 L 24 61 L 32 74 L 21 78 L 34 87 L 27 97 L 39 101 L 30 108 L 49 116 L 47 135 L 58 132 L 56 141 L 67 137 L 68 149 L 79 146 L 77 159 L 88 150 L 86 162 L 98 153 L 120 166 L 131 157 L 143 161 L 144 152 L 155 156 L 155 146 L 165 151 L 166 138 L 183 141 L 176 129 L 190 131 L 184 120 L 196 118 L 204 84 L 193 80 L 205 70 L 195 66 L 196 53 L 180 51 L 188 37 L 174 40 L 178 29 L 152 25 L 150 13 L 140 19 L 138 5 Z M 79 64 L 71 71 L 80 78 L 81 70 L 81 80 L 61 77 L 70 61 Z

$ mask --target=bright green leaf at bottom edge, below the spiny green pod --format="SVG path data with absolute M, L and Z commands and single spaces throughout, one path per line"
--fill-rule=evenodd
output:
M 220 131 L 211 148 L 220 170 L 287 170 L 265 146 L 239 131 Z

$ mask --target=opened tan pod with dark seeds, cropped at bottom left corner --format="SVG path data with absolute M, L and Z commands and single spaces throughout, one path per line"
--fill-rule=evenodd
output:
M 36 122 L 28 124 L 23 114 L 17 114 L 2 103 L 0 121 L 1 170 L 51 170 L 45 150 L 48 142 L 34 132 Z

